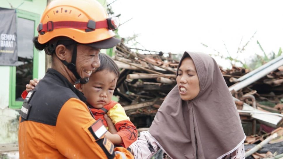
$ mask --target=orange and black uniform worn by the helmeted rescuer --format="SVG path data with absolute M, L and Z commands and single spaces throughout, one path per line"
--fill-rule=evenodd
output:
M 31 107 L 21 110 L 28 116 L 20 117 L 20 158 L 133 158 L 104 135 L 95 136 L 90 128 L 96 120 L 85 97 L 56 70 L 48 69 L 27 96 L 24 104 Z

